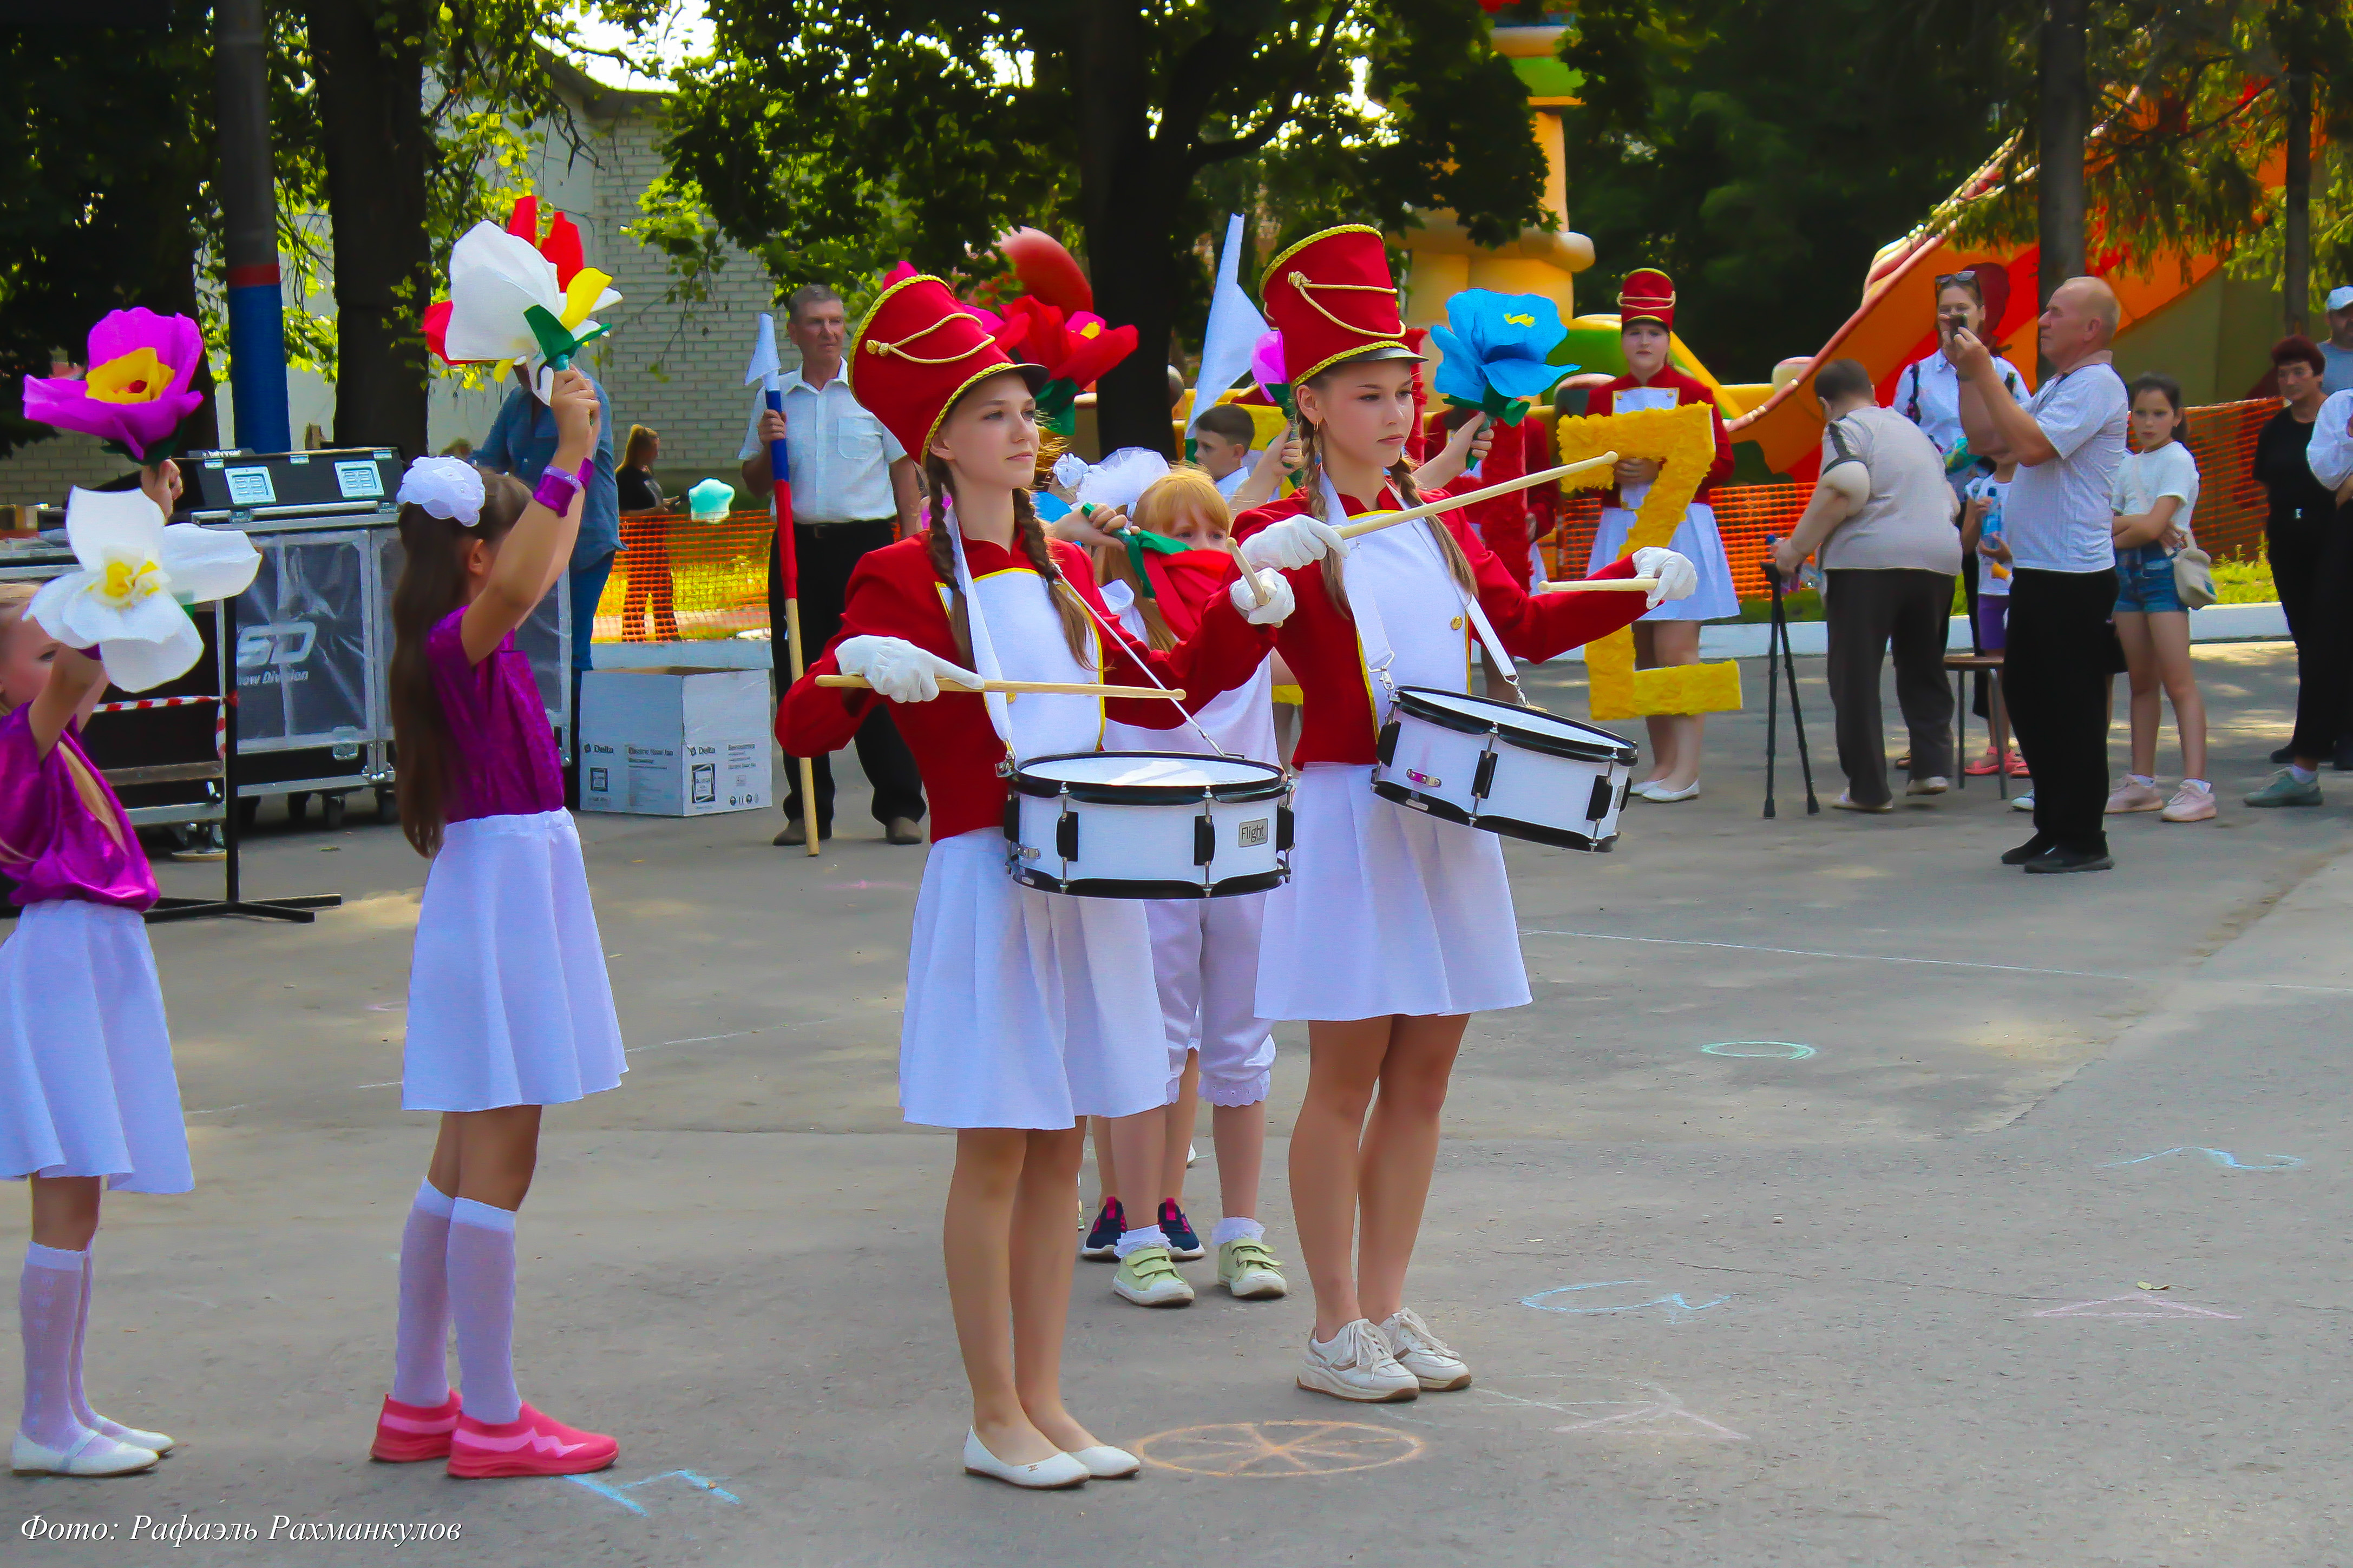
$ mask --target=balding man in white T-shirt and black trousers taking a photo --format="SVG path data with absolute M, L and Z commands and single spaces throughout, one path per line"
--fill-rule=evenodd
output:
M 2035 773 L 2035 837 L 2002 856 L 2028 872 L 2104 872 L 2108 858 L 2108 677 L 2115 675 L 2115 548 L 2108 498 L 2125 461 L 2125 383 L 2111 364 L 2115 292 L 2068 277 L 2042 308 L 2052 376 L 2024 409 L 1998 388 L 1972 331 L 1946 339 L 1969 447 L 2014 458 L 2002 508 L 2009 646 L 2002 693 Z

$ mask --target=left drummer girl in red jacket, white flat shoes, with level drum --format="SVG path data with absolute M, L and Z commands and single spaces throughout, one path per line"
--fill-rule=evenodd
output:
M 941 677 L 976 682 L 979 665 L 1005 679 L 1146 684 L 1148 668 L 1198 705 L 1266 658 L 1271 632 L 1240 607 L 1261 623 L 1289 609 L 1282 581 L 1264 574 L 1266 607 L 1235 583 L 1167 654 L 1101 630 L 1108 611 L 1085 550 L 1047 541 L 1028 503 L 1042 383 L 936 277 L 875 301 L 849 346 L 849 390 L 922 454 L 929 527 L 859 562 L 840 635 L 776 715 L 784 750 L 809 757 L 847 745 L 887 701 L 922 771 L 932 853 L 915 898 L 899 1105 L 908 1121 L 958 1128 L 944 1246 L 972 1380 L 965 1469 L 1035 1488 L 1139 1469 L 1061 1403 L 1071 1192 L 1087 1114 L 1146 1128 L 1151 1147 L 1134 1159 L 1120 1147 L 1120 1164 L 1160 1166 L 1167 1044 L 1144 905 L 1016 884 L 1000 764 L 1007 752 L 1096 750 L 1106 717 L 1165 729 L 1184 715 L 1144 698 L 944 693 Z M 816 684 L 835 672 L 873 691 Z M 1158 1227 L 1146 1229 L 1165 1255 Z

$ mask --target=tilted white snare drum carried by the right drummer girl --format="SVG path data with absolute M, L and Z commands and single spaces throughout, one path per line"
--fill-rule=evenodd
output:
M 1635 750 L 1541 708 L 1405 686 L 1372 790 L 1400 806 L 1560 849 L 1609 849 Z

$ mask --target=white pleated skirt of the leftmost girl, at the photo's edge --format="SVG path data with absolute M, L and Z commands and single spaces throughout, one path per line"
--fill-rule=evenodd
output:
M 162 985 L 136 910 L 52 898 L 0 945 L 0 1175 L 188 1192 Z

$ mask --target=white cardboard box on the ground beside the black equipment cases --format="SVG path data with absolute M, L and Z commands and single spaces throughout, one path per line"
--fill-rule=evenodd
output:
M 767 670 L 581 675 L 581 809 L 711 816 L 772 804 Z

